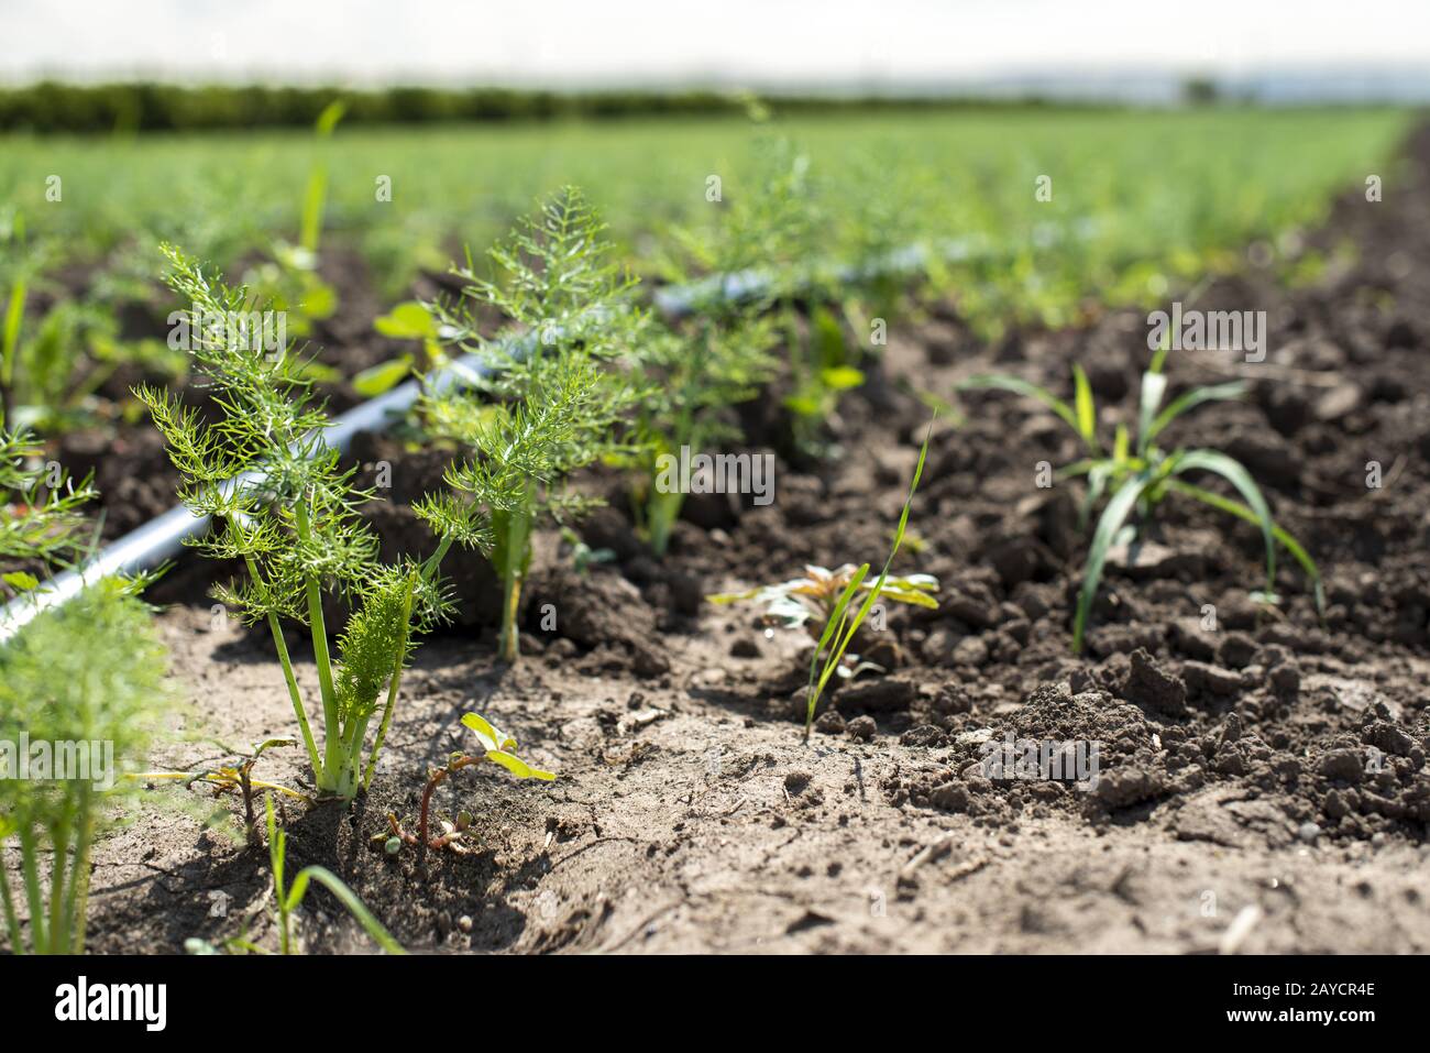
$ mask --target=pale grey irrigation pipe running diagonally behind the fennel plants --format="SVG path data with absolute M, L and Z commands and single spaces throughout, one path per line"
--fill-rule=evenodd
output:
M 1072 229 L 1074 237 L 1085 237 L 1091 226 L 1085 222 Z M 1062 230 L 1054 226 L 1037 227 L 1032 233 L 1035 245 L 1051 245 Z M 932 258 L 951 262 L 965 262 L 994 252 L 985 237 L 960 237 L 935 245 L 932 250 L 922 245 L 889 253 L 881 260 L 864 266 L 844 266 L 832 273 L 837 280 L 854 282 L 874 275 L 915 272 Z M 655 306 L 671 318 L 681 318 L 701 309 L 712 300 L 742 300 L 775 288 L 774 275 L 759 270 L 709 278 L 682 286 L 665 286 L 655 290 Z M 479 355 L 466 355 L 428 378 L 435 388 L 465 385 L 490 373 L 490 363 Z M 406 416 L 422 393 L 422 382 L 408 381 L 392 391 L 353 406 L 337 416 L 332 426 L 323 431 L 323 442 L 343 452 L 359 432 L 386 431 L 392 423 Z M 232 491 L 260 482 L 262 472 L 246 472 L 230 479 L 225 486 Z M 89 585 L 116 574 L 139 574 L 150 571 L 166 559 L 183 551 L 187 538 L 199 538 L 209 532 L 209 516 L 194 515 L 186 506 L 172 508 L 157 519 L 122 537 L 94 558 L 73 571 L 63 571 L 40 588 L 0 608 L 0 642 L 4 642 L 41 611 L 69 602 Z

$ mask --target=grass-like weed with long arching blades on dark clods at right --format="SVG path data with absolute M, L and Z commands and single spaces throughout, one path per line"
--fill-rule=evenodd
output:
M 1246 385 L 1241 382 L 1217 383 L 1185 391 L 1164 408 L 1161 403 L 1167 393 L 1167 375 L 1163 372 L 1165 355 L 1165 349 L 1157 352 L 1151 368 L 1143 373 L 1135 445 L 1128 436 L 1127 426 L 1118 425 L 1111 454 L 1107 454 L 1098 441 L 1093 388 L 1080 365 L 1072 366 L 1074 401 L 1071 406 L 1045 388 L 1017 376 L 988 373 L 970 378 L 960 385 L 961 388 L 997 388 L 1034 398 L 1077 432 L 1088 455 L 1062 468 L 1058 476 L 1087 476 L 1087 495 L 1080 512 L 1084 528 L 1103 495 L 1110 495 L 1093 531 L 1087 562 L 1083 568 L 1083 587 L 1078 591 L 1077 615 L 1072 622 L 1072 651 L 1075 654 L 1083 651 L 1083 638 L 1108 551 L 1120 542 L 1131 541 L 1140 532 L 1137 525 L 1127 522 L 1134 509 L 1140 512 L 1141 524 L 1145 525 L 1157 505 L 1170 492 L 1195 498 L 1261 528 L 1266 541 L 1266 591 L 1261 594 L 1261 599 L 1277 602 L 1276 547 L 1280 544 L 1311 579 L 1317 611 L 1324 609 L 1324 592 L 1316 562 L 1296 538 L 1276 525 L 1260 486 L 1238 461 L 1214 449 L 1164 451 L 1157 445 L 1157 438 L 1167 425 L 1188 409 L 1200 406 L 1203 402 L 1237 399 L 1246 393 Z M 1187 472 L 1198 471 L 1224 478 L 1246 504 L 1180 478 Z

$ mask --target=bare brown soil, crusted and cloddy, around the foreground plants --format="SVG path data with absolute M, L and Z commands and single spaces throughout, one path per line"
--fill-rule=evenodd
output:
M 898 564 L 938 575 L 940 609 L 891 609 L 867 648 L 887 675 L 841 688 L 801 744 L 791 695 L 809 641 L 704 592 L 805 562 L 878 564 L 922 436 L 911 389 L 950 395 L 998 368 L 1067 393 L 1083 362 L 1098 402 L 1135 415 L 1141 313 L 988 348 L 944 305 L 891 335 L 882 378 L 847 399 L 842 454 L 818 471 L 781 461 L 765 508 L 692 499 L 664 565 L 633 541 L 616 484 L 593 479 L 613 501 L 583 534 L 616 561 L 579 575 L 545 539 L 519 668 L 493 660 L 489 575 L 455 565 L 466 625 L 420 650 L 373 791 L 352 811 L 287 810 L 290 867 L 336 870 L 415 950 L 1430 950 L 1430 134 L 1407 156 L 1386 202 L 1347 196 L 1316 237 L 1354 245 L 1357 262 L 1296 290 L 1248 266 L 1197 305 L 1266 310 L 1267 362 L 1174 352 L 1168 365 L 1174 386 L 1251 382 L 1246 402 L 1203 406 L 1174 438 L 1251 468 L 1321 565 L 1324 624 L 1290 561 L 1278 612 L 1253 604 L 1257 531 L 1171 498 L 1150 544 L 1110 572 L 1074 658 L 1081 485 L 1034 476 L 1075 444 L 1037 406 L 981 393 L 934 438 Z M 385 438 L 353 456 L 393 464 L 392 501 L 372 515 L 392 547 L 413 544 L 402 502 L 442 456 Z M 206 730 L 289 734 L 266 641 L 212 625 L 183 588 L 197 587 L 169 598 L 192 607 L 162 621 Z M 546 602 L 558 630 L 542 634 Z M 415 823 L 425 770 L 462 747 L 468 710 L 561 778 L 466 770 L 436 803 L 475 813 L 475 851 L 386 856 L 386 814 Z M 980 743 L 1005 733 L 1097 741 L 1095 788 L 985 778 Z M 302 778 L 293 751 L 259 774 Z M 146 807 L 97 853 L 90 944 L 176 951 L 249 916 L 249 937 L 272 946 L 269 888 L 262 850 Z M 312 950 L 369 946 L 326 894 L 303 931 Z

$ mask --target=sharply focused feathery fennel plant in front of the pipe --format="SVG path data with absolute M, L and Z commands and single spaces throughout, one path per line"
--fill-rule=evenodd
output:
M 166 252 L 170 285 L 206 318 L 245 312 L 245 289 L 225 289 L 193 260 Z M 214 597 L 249 624 L 267 622 L 317 788 L 352 798 L 372 781 L 413 631 L 448 615 L 440 561 L 453 541 L 480 544 L 485 524 L 440 501 L 419 502 L 419 515 L 433 512 L 428 518 L 440 537 L 436 551 L 422 562 L 378 562 L 378 539 L 355 511 L 370 494 L 356 489 L 353 472 L 340 471 L 337 451 L 323 444 L 329 421 L 309 399 L 297 356 L 290 348 L 253 351 L 227 326 L 203 330 L 196 319 L 193 329 L 196 373 L 210 386 L 219 419 L 204 422 L 167 391 L 143 388 L 137 395 L 183 479 L 180 499 L 214 519 L 214 531 L 194 545 L 216 559 L 240 559 L 247 571 L 245 582 L 220 587 Z M 336 661 L 323 614 L 327 592 L 353 611 Z M 322 751 L 293 675 L 283 618 L 312 632 Z M 368 728 L 379 705 L 369 750 Z

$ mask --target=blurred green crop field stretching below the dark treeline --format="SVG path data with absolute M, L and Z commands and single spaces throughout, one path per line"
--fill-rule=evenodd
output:
M 299 240 L 315 169 L 327 180 L 322 248 L 360 252 L 392 303 L 410 295 L 419 269 L 445 270 L 462 246 L 480 258 L 513 216 L 565 183 L 602 209 L 636 273 L 669 273 L 672 246 L 758 209 L 774 163 L 799 173 L 802 222 L 798 237 L 768 246 L 764 265 L 858 263 L 909 243 L 972 239 L 988 255 L 930 278 L 997 333 L 1012 319 L 1072 322 L 1087 300 L 1155 300 L 1236 266 L 1248 242 L 1314 225 L 1336 192 L 1369 173 L 1390 182 L 1406 127 L 1406 113 L 1384 109 L 1038 109 L 762 124 L 339 124 L 330 139 L 9 136 L 0 139 L 0 296 L 24 292 L 24 309 L 9 312 L 11 373 L 29 368 L 33 382 L 49 371 L 26 398 L 54 399 L 86 383 L 83 369 L 51 361 L 80 353 L 76 345 L 110 359 L 154 353 L 126 346 L 106 319 L 126 302 L 167 303 L 154 283 L 160 242 L 223 269 L 292 263 L 275 246 Z M 772 149 L 779 142 L 789 149 Z M 718 205 L 708 200 L 711 176 L 721 180 Z M 1051 180 L 1051 200 L 1038 199 L 1040 176 Z M 378 200 L 380 177 L 390 179 L 390 200 Z M 1288 252 L 1280 263 L 1298 275 L 1317 260 Z M 283 275 L 270 269 L 270 279 L 279 288 Z M 67 313 L 49 319 L 54 310 Z

